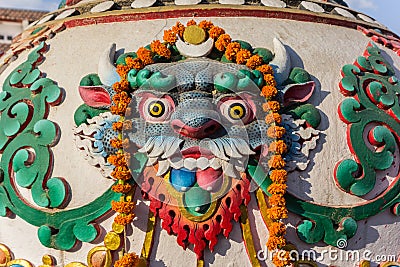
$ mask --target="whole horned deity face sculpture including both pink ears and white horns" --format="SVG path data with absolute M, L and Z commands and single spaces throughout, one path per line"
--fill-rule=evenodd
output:
M 293 72 L 300 73 L 302 80 L 288 79 L 289 55 L 279 40 L 274 42 L 275 59 L 264 70 L 198 55 L 191 57 L 190 50 L 197 52 L 199 48 L 182 47 L 178 41 L 176 47 L 187 59 L 149 64 L 126 74 L 129 88 L 134 88 L 123 114 L 121 135 L 128 165 L 134 173 L 140 165 L 138 157 L 145 158 L 143 171 L 134 179 L 144 198 L 150 200 L 150 210 L 162 220 L 162 227 L 168 233 L 177 235 L 182 247 L 194 244 L 193 250 L 199 258 L 207 245 L 213 250 L 220 233 L 229 236 L 232 221 L 239 220 L 250 201 L 250 193 L 260 185 L 268 186 L 265 179 L 271 164 L 280 164 L 279 160 L 270 162 L 275 156 L 271 145 L 277 144 L 277 136 L 268 131 L 281 123 L 281 117 L 266 118 L 263 90 L 276 90 L 275 79 L 282 83 L 277 92 L 280 104 L 275 101 L 278 109 L 280 105 L 306 101 L 314 90 L 314 82 L 302 69 Z M 203 46 L 209 46 L 205 51 L 210 53 L 214 46 L 212 39 Z M 115 46 L 111 58 L 114 51 Z M 255 51 L 272 59 L 267 49 Z M 109 57 L 108 53 L 106 56 Z M 126 59 L 129 56 L 132 54 L 121 57 L 129 62 Z M 84 83 L 80 87 L 85 103 L 96 108 L 110 106 L 118 92 L 115 83 L 121 84 L 119 77 L 113 76 L 112 64 L 107 60 L 101 62 L 100 65 L 110 67 L 99 73 L 100 80 L 109 81 L 109 86 Z M 276 78 L 271 75 L 273 68 Z M 105 154 L 117 153 L 110 140 L 118 133 L 110 125 L 120 117 L 107 115 L 105 120 L 111 122 L 103 123 L 108 129 L 102 130 L 97 147 L 104 148 Z M 80 131 L 78 127 L 83 140 Z M 293 141 L 290 134 L 288 131 L 286 143 L 294 151 L 297 140 Z M 295 157 L 293 153 L 292 156 Z

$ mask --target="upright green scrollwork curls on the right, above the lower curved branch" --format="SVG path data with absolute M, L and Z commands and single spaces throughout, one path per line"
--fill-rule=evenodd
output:
M 339 162 L 335 179 L 344 191 L 363 196 L 374 188 L 376 170 L 388 169 L 394 160 L 395 136 L 400 133 L 400 84 L 372 43 L 365 56 L 343 67 L 342 74 L 340 89 L 349 98 L 339 105 L 339 116 L 348 124 L 348 143 L 355 160 Z

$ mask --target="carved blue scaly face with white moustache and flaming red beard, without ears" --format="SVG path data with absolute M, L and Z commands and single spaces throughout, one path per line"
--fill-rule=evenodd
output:
M 130 77 L 139 89 L 126 116 L 134 130 L 124 138 L 148 158 L 137 183 L 163 228 L 198 254 L 205 240 L 213 249 L 220 232 L 228 236 L 250 200 L 249 157 L 272 141 L 257 120 L 263 99 L 250 77 L 244 66 L 206 59 L 150 65 Z

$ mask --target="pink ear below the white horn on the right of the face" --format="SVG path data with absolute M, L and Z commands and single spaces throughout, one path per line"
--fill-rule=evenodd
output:
M 286 86 L 283 92 L 283 104 L 288 106 L 294 103 L 306 102 L 312 96 L 315 89 L 315 82 L 306 82 L 300 84 L 290 84 Z

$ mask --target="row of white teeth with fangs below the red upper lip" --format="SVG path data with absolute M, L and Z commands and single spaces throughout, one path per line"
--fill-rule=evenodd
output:
M 158 158 L 149 158 L 147 162 L 147 166 L 154 165 L 157 162 Z M 238 163 L 238 162 L 235 162 Z M 232 164 L 231 162 L 227 162 L 218 158 L 207 159 L 205 157 L 200 157 L 198 159 L 194 158 L 168 158 L 166 160 L 158 160 L 158 172 L 157 176 L 164 175 L 170 169 L 170 167 L 174 169 L 186 168 L 190 171 L 200 169 L 205 170 L 207 168 L 213 168 L 214 170 L 218 170 L 222 168 L 222 171 L 225 175 L 240 179 L 240 172 L 244 172 L 245 168 L 242 166 L 243 164 Z

